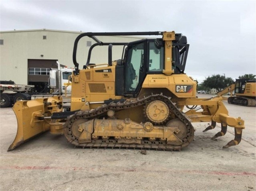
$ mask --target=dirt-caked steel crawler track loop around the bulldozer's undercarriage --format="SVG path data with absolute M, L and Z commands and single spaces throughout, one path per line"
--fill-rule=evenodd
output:
M 141 141 L 138 143 L 131 142 L 130 144 L 127 143 L 118 143 L 118 141 L 115 139 L 114 136 L 109 137 L 97 137 L 96 139 L 93 138 L 91 142 L 86 143 L 79 143 L 79 135 L 77 135 L 74 130 L 72 129 L 72 126 L 75 125 L 74 123 L 79 123 L 78 120 L 80 120 L 80 123 L 87 122 L 89 120 L 94 120 L 96 118 L 104 118 L 107 116 L 107 112 L 109 110 L 113 111 L 120 111 L 125 110 L 129 108 L 134 108 L 138 106 L 145 106 L 146 104 L 154 101 L 154 100 L 160 100 L 164 102 L 171 113 L 175 115 L 175 119 L 179 119 L 183 124 L 185 124 L 186 132 L 185 136 L 182 138 L 182 143 L 171 143 L 167 142 L 166 140 L 163 140 L 161 138 L 157 138 L 155 140 L 150 140 L 150 138 L 143 137 Z M 116 119 L 111 119 L 116 120 Z M 164 124 L 167 123 L 169 120 L 166 119 Z M 146 122 L 147 123 L 147 122 Z M 168 125 L 168 124 L 167 124 Z M 94 131 L 94 130 L 93 130 Z M 189 143 L 194 139 L 194 128 L 187 116 L 183 112 L 180 112 L 179 109 L 173 104 L 170 98 L 164 95 L 150 95 L 141 99 L 137 100 L 126 100 L 125 102 L 118 102 L 114 103 L 111 102 L 110 104 L 103 104 L 102 106 L 91 109 L 91 110 L 85 110 L 85 111 L 78 111 L 75 114 L 71 115 L 67 122 L 64 124 L 64 134 L 67 138 L 67 140 L 74 144 L 75 146 L 79 147 L 89 147 L 89 148 L 139 148 L 139 149 L 154 149 L 154 150 L 181 150 L 181 148 L 186 147 L 189 145 Z M 137 139 L 137 137 L 133 137 L 132 139 Z

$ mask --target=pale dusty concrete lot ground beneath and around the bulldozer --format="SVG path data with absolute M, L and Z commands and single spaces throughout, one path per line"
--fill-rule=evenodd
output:
M 209 96 L 209 95 L 200 95 Z M 241 116 L 246 129 L 238 146 L 222 149 L 234 138 L 228 127 L 203 133 L 208 123 L 194 123 L 195 140 L 181 152 L 74 148 L 64 136 L 46 132 L 11 152 L 16 117 L 0 109 L 0 190 L 256 190 L 256 108 L 224 102 L 230 116 Z

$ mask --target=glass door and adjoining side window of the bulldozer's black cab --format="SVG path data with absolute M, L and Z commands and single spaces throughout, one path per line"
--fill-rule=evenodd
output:
M 128 43 L 124 57 L 124 93 L 137 95 L 147 73 L 162 73 L 164 48 L 155 46 L 155 39 Z

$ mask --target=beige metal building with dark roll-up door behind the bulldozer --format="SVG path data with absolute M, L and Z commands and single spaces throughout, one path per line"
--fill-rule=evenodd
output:
M 48 82 L 49 68 L 56 61 L 73 67 L 73 45 L 82 32 L 59 30 L 22 30 L 0 32 L 0 79 L 16 84 L 44 86 Z M 129 42 L 141 39 L 127 36 L 97 37 L 104 42 Z M 80 68 L 87 61 L 87 53 L 95 42 L 89 37 L 79 41 L 77 61 Z M 101 51 L 99 49 L 101 48 Z M 107 47 L 95 47 L 91 63 L 107 63 Z M 121 59 L 122 50 L 113 47 L 113 60 Z

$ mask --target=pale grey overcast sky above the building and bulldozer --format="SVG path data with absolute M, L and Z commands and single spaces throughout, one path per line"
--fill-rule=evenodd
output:
M 185 73 L 202 82 L 256 74 L 256 1 L 0 1 L 0 30 L 175 31 L 190 44 Z

